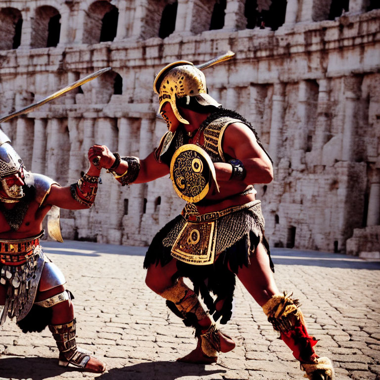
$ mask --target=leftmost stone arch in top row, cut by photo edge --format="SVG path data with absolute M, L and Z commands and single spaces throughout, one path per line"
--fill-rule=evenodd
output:
M 21 42 L 22 15 L 16 8 L 0 10 L 0 50 L 17 49 Z

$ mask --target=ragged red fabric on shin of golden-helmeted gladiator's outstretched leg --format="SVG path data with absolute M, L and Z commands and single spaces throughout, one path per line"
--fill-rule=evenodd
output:
M 318 340 L 308 334 L 306 326 L 301 321 L 298 321 L 298 325 L 293 330 L 282 332 L 280 337 L 293 351 L 293 356 L 300 362 L 312 362 L 318 358 L 313 349 Z

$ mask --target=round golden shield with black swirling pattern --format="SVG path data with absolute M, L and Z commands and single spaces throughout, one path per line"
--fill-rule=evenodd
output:
M 210 156 L 195 144 L 183 145 L 174 152 L 170 163 L 170 178 L 176 193 L 191 203 L 199 202 L 206 196 L 212 181 L 217 186 Z

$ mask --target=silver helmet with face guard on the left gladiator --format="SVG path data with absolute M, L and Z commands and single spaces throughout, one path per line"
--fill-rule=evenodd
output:
M 8 186 L 5 178 L 14 174 L 21 174 L 24 164 L 22 159 L 13 149 L 10 144 L 10 139 L 0 130 L 0 181 L 1 187 L 7 197 L 0 195 L 0 200 L 3 202 L 17 202 L 25 194 L 22 186 Z

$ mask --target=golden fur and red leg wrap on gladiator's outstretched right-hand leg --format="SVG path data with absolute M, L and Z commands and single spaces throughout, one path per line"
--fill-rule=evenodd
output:
M 300 362 L 313 362 L 318 355 L 313 346 L 318 340 L 310 336 L 306 330 L 306 324 L 301 310 L 298 308 L 298 300 L 291 299 L 291 294 L 275 294 L 263 306 L 268 321 L 275 331 L 280 333 L 280 338 L 292 350 L 294 357 Z

